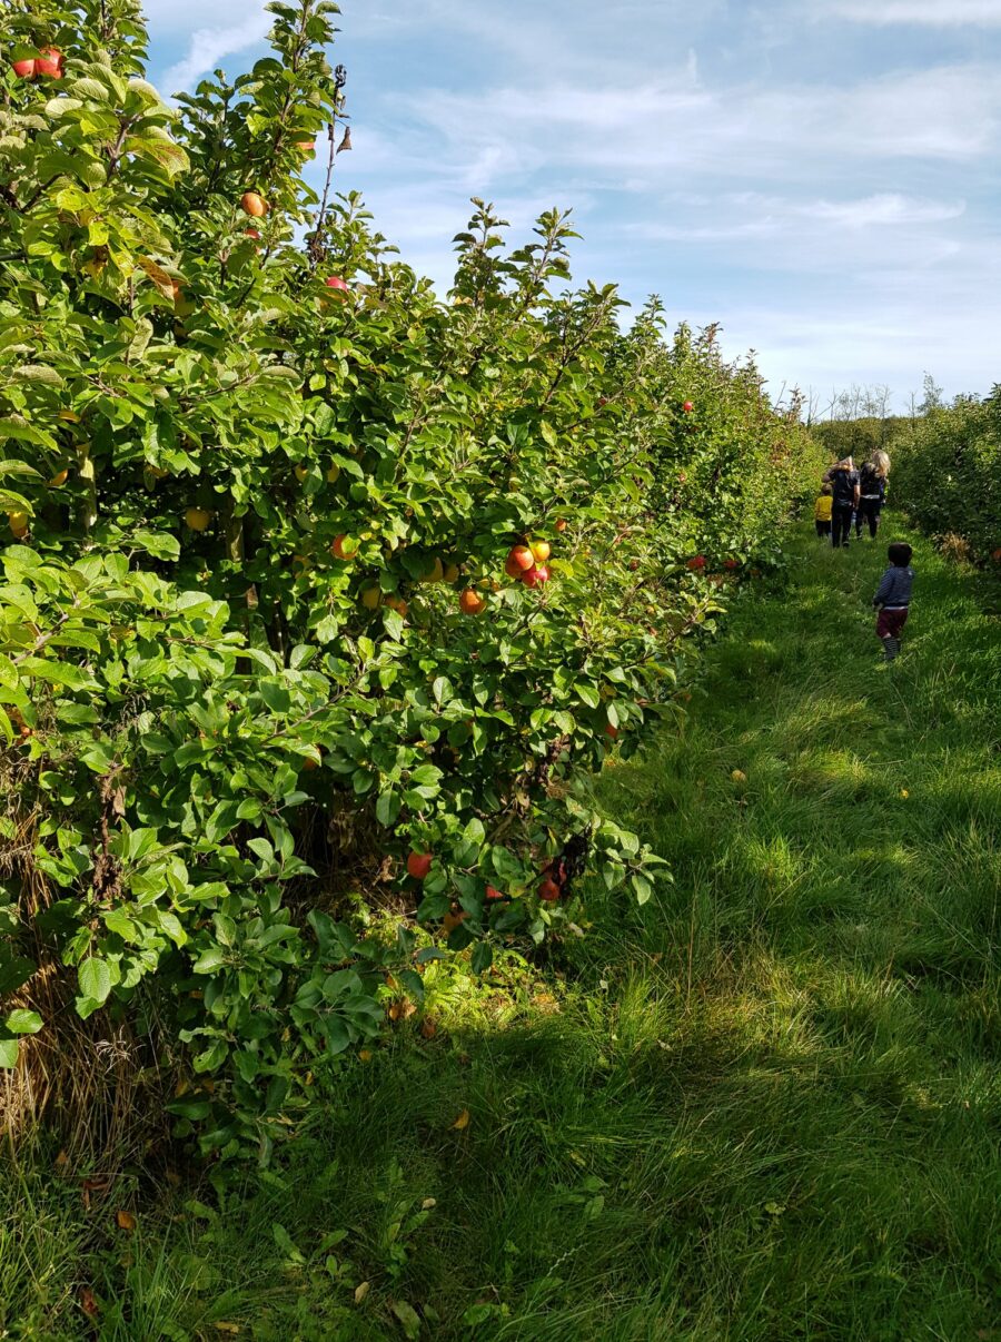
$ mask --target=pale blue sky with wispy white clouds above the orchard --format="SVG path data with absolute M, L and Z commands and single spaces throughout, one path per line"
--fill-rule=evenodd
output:
M 258 0 L 146 12 L 165 94 L 264 50 Z M 777 399 L 1001 381 L 1001 0 L 342 0 L 339 28 L 339 189 L 443 291 L 471 196 L 515 240 L 557 205 L 577 282 L 719 322 Z

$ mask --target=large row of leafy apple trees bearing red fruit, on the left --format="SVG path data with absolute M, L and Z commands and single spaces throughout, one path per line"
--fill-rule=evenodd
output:
M 429 958 L 531 947 L 586 872 L 649 896 L 586 778 L 817 470 L 711 330 L 574 287 L 564 213 L 510 250 L 475 201 L 435 293 L 334 191 L 335 7 L 270 11 L 173 110 L 131 0 L 12 4 L 0 105 L 0 1063 L 43 964 L 185 1051 L 225 1155 Z

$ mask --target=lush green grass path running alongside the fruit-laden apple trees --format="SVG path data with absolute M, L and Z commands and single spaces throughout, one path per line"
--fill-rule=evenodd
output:
M 102 1339 L 997 1335 L 1001 631 L 915 548 L 891 667 L 882 545 L 800 537 L 738 603 L 680 733 L 598 785 L 675 882 L 593 891 L 543 996 L 443 1002 L 221 1200 L 0 1174 L 0 1335 L 94 1335 L 81 1284 Z

